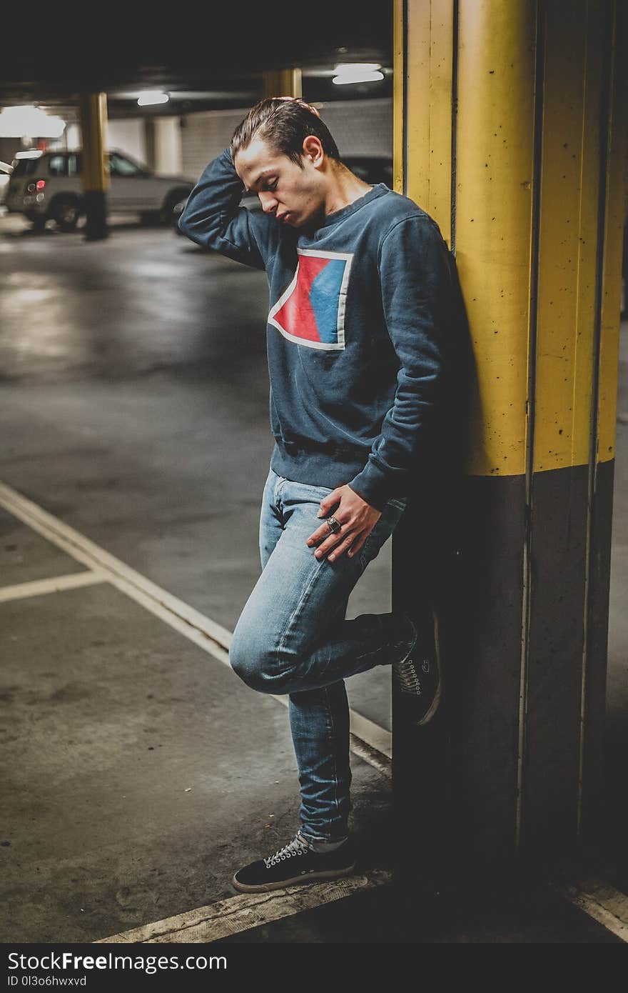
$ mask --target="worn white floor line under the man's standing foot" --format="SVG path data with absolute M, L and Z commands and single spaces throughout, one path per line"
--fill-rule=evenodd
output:
M 306 886 L 289 886 L 271 893 L 242 893 L 174 918 L 100 938 L 92 944 L 116 941 L 142 941 L 147 944 L 216 941 L 229 934 L 303 914 L 314 907 L 322 907 L 354 893 L 383 886 L 390 883 L 391 879 L 390 872 L 380 869 L 362 876 L 347 876 L 324 883 L 308 883 Z

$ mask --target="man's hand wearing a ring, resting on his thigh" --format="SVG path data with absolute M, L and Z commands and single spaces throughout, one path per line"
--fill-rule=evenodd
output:
M 317 545 L 314 555 L 317 559 L 327 555 L 330 562 L 345 552 L 349 558 L 356 555 L 382 515 L 382 511 L 362 499 L 350 486 L 336 487 L 320 500 L 318 516 L 333 514 L 342 525 L 337 534 L 329 530 L 323 521 L 320 527 L 307 539 L 309 546 Z

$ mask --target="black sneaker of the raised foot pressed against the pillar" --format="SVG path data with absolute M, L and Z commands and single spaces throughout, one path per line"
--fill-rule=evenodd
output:
M 428 724 L 440 704 L 440 652 L 437 632 L 437 618 L 430 609 L 430 620 L 411 617 L 417 638 L 414 648 L 401 662 L 393 662 L 393 680 L 399 689 L 399 705 L 402 720 L 417 727 Z

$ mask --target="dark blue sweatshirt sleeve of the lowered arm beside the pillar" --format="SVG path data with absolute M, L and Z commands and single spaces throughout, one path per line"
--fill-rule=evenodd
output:
M 400 361 L 393 406 L 350 488 L 378 510 L 410 493 L 430 446 L 444 385 L 452 299 L 447 248 L 436 221 L 413 214 L 384 237 L 379 274 L 384 317 Z

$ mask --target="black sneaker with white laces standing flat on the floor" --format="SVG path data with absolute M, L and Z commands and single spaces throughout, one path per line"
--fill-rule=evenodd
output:
M 274 855 L 238 869 L 231 882 L 243 893 L 263 893 L 296 883 L 349 876 L 355 864 L 356 852 L 351 838 L 330 852 L 315 852 L 298 831 L 292 841 Z

